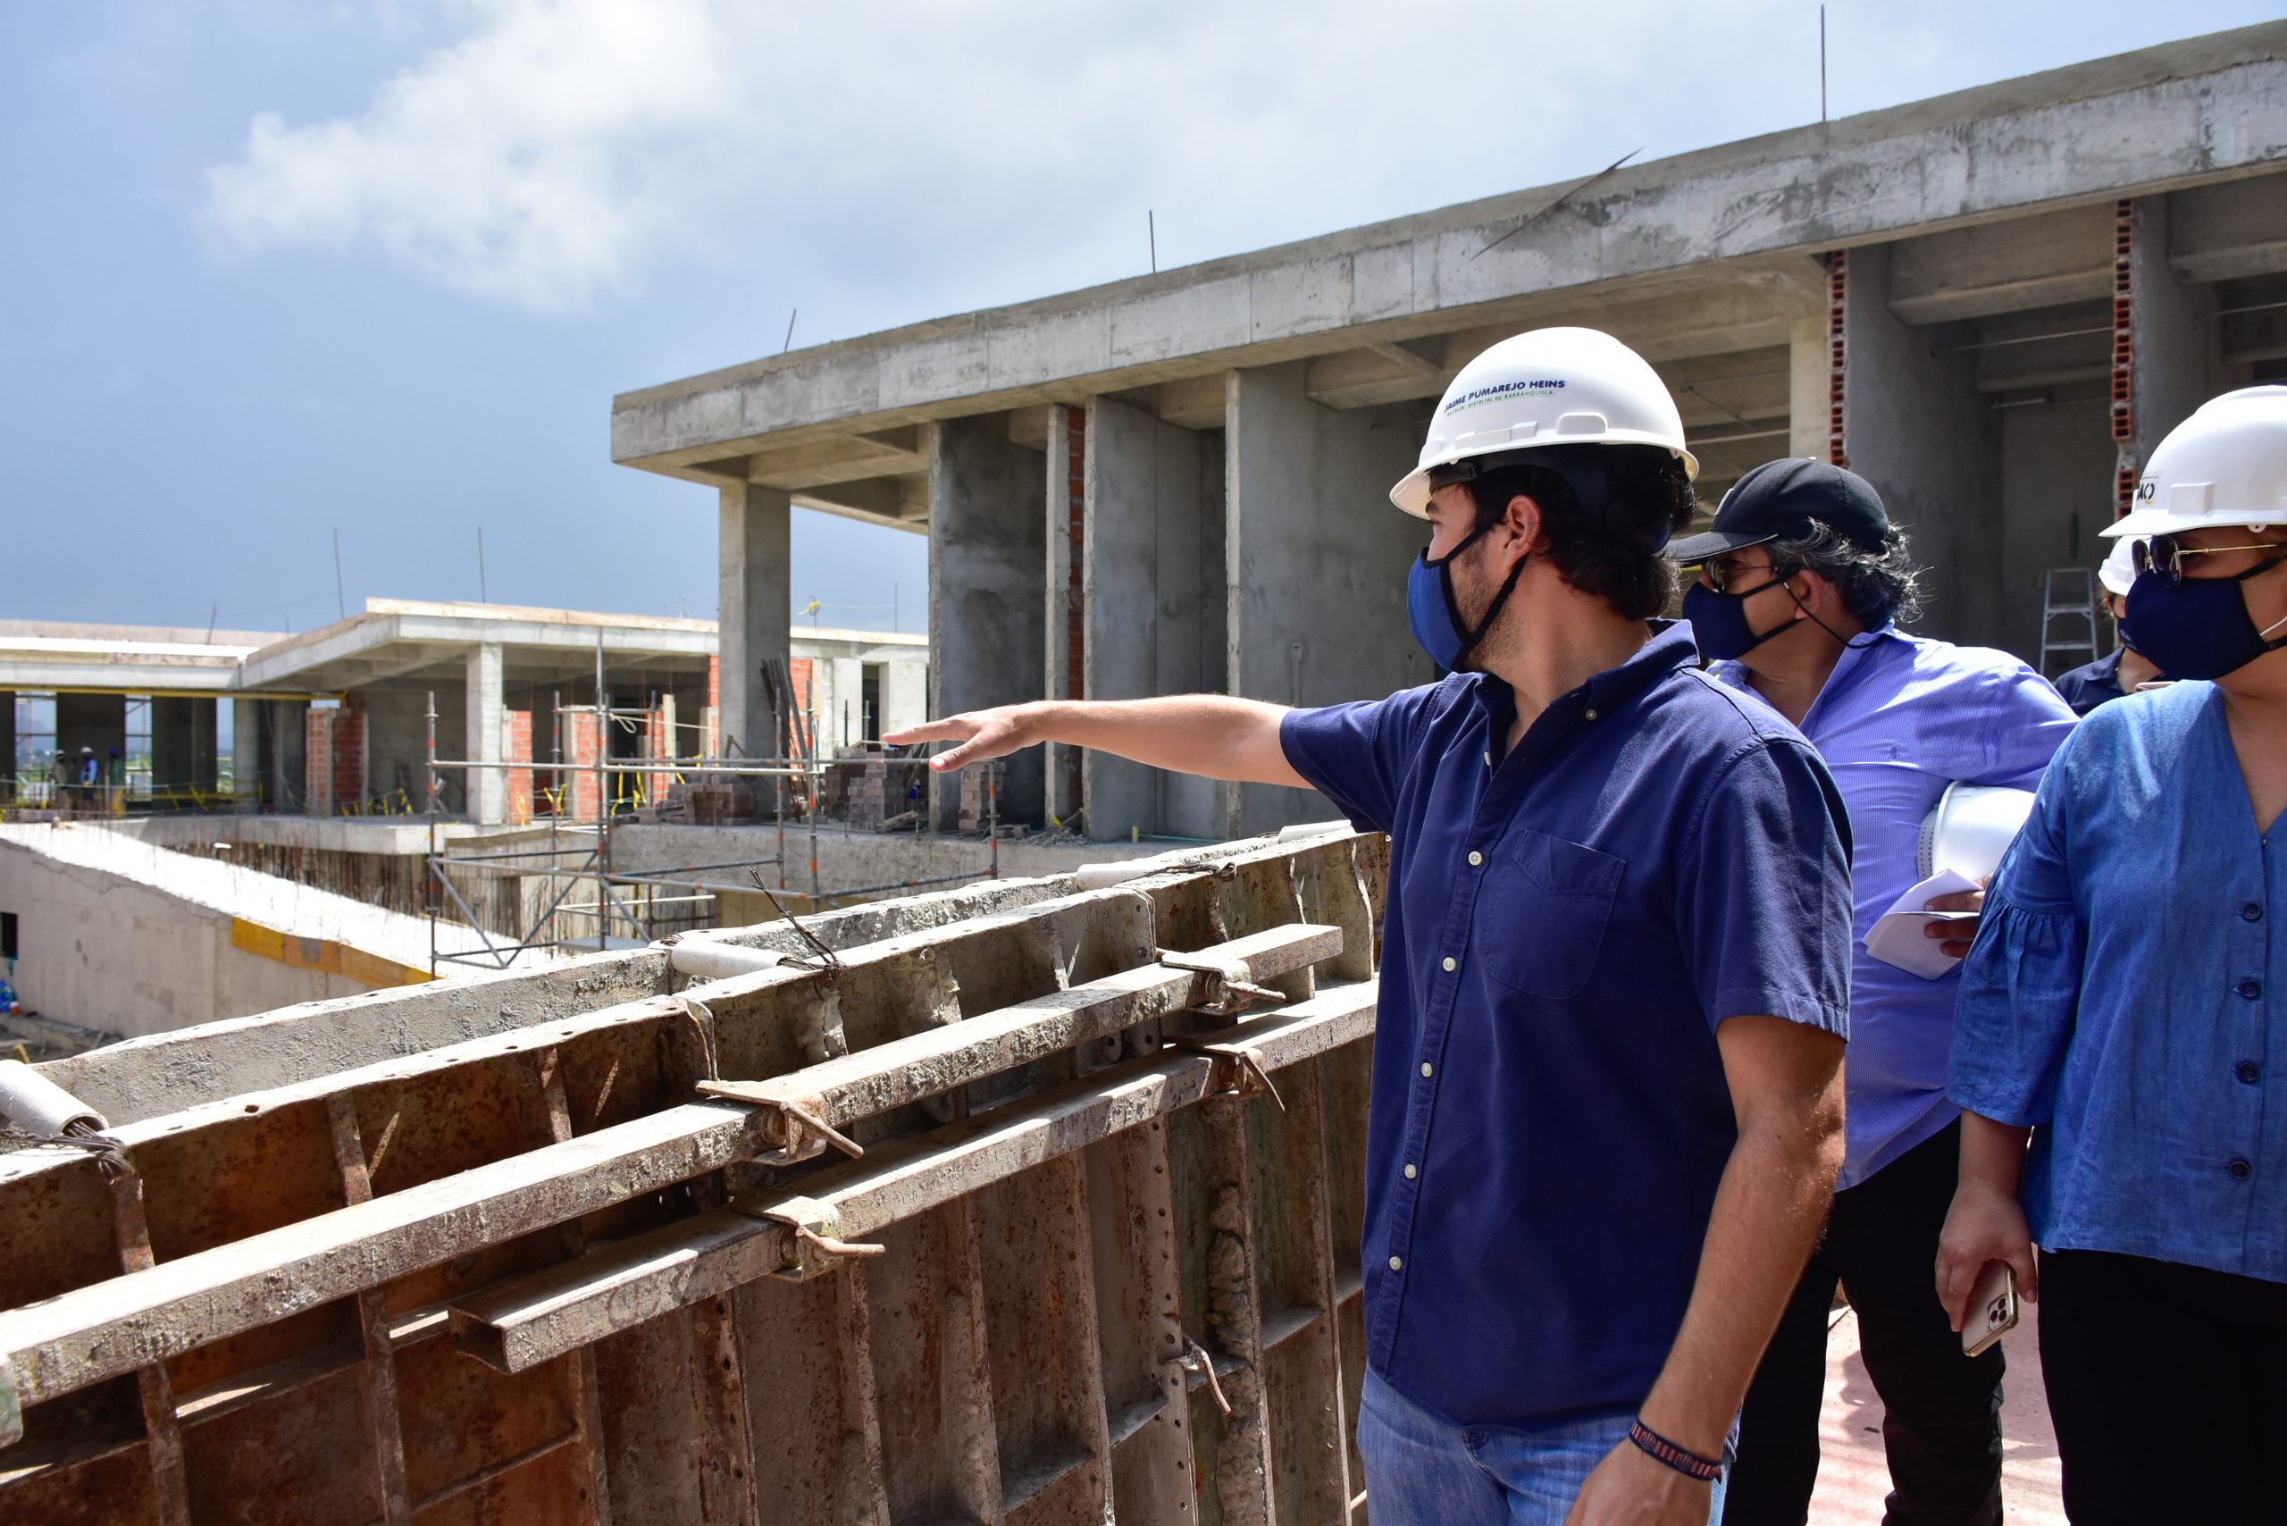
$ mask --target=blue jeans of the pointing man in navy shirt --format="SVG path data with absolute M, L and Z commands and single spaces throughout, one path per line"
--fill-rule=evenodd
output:
M 1365 1370 L 1358 1455 L 1374 1526 L 1564 1526 L 1580 1485 L 1628 1439 L 1633 1409 L 1548 1430 L 1452 1425 Z M 1722 1519 L 1722 1483 L 1708 1521 Z

